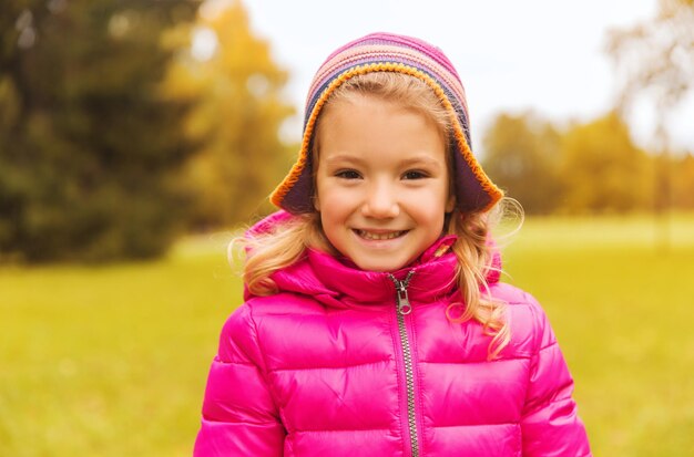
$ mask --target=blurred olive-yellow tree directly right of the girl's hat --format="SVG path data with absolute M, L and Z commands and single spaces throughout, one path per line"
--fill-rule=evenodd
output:
M 482 139 L 483 167 L 530 214 L 548 214 L 560 197 L 560 133 L 525 113 L 500 114 Z

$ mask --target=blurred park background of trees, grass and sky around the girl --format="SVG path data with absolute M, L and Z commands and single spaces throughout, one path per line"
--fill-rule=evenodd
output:
M 378 30 L 456 64 L 595 455 L 694 455 L 694 2 L 455 3 L 3 0 L 0 455 L 191 454 L 226 245 Z

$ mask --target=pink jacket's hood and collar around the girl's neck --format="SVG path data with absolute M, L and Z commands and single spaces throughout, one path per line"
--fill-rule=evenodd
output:
M 284 210 L 274 212 L 258 221 L 246 235 L 268 231 L 294 217 Z M 276 271 L 271 278 L 280 292 L 309 295 L 333 308 L 354 308 L 394 301 L 396 289 L 392 278 L 402 280 L 414 270 L 408 285 L 410 301 L 430 302 L 458 289 L 455 281 L 457 258 L 450 250 L 456 239 L 456 236 L 439 238 L 415 262 L 390 273 L 361 270 L 347 258 L 308 249 L 302 260 Z M 487 274 L 489 284 L 499 281 L 500 268 L 501 258 L 494 250 Z M 252 297 L 247 290 L 245 293 L 246 300 Z

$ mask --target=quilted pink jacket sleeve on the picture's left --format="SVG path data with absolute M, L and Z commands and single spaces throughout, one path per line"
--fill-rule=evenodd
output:
M 282 456 L 285 429 L 269 394 L 251 308 L 228 319 L 212 362 L 194 457 Z

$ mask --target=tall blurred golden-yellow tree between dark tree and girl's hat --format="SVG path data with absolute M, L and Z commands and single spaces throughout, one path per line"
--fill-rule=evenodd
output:
M 203 6 L 192 33 L 181 28 L 170 39 L 177 46 L 191 35 L 190 52 L 177 54 L 166 90 L 200 100 L 186 133 L 203 143 L 186 172 L 196 196 L 194 228 L 210 229 L 266 209 L 263 200 L 288 169 L 279 127 L 294 108 L 282 100 L 287 73 L 254 35 L 241 1 Z

